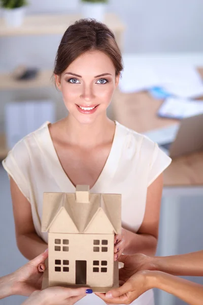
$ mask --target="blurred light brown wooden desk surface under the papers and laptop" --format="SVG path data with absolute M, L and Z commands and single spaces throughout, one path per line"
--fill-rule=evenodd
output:
M 178 120 L 156 116 L 161 103 L 144 92 L 122 94 L 117 90 L 112 102 L 113 116 L 140 133 L 177 123 Z M 203 151 L 173 160 L 163 177 L 164 187 L 203 186 Z

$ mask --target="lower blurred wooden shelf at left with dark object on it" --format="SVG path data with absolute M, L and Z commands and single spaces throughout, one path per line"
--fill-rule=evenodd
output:
M 15 80 L 11 74 L 0 74 L 0 90 L 29 89 L 53 86 L 51 70 L 42 70 L 32 80 Z

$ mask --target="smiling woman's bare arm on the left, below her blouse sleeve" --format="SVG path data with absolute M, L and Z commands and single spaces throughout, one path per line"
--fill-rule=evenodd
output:
M 47 244 L 37 235 L 28 200 L 10 177 L 11 197 L 15 221 L 17 246 L 27 259 L 33 259 L 47 249 Z

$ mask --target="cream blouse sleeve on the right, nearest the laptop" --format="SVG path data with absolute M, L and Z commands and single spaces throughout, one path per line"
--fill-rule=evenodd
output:
M 149 169 L 148 187 L 171 164 L 172 159 L 154 143 L 152 161 Z

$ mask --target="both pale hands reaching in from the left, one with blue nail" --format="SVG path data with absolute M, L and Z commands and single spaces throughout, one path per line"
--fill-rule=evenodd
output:
M 48 252 L 40 254 L 20 269 L 8 276 L 0 278 L 0 299 L 11 295 L 29 296 L 22 305 L 73 305 L 86 293 L 92 293 L 87 288 L 50 287 L 40 291 L 42 286 L 44 261 Z

